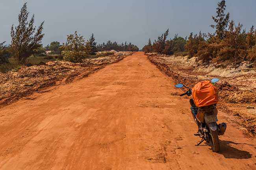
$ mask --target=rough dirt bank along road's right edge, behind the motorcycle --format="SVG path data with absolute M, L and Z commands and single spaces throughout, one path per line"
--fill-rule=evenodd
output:
M 182 82 L 190 88 L 202 80 L 211 80 L 208 72 L 197 72 L 195 57 L 167 57 L 167 55 L 150 54 L 150 62 L 167 75 L 174 78 L 176 83 Z M 217 83 L 220 98 L 229 102 L 256 103 L 256 74 L 249 73 L 233 77 L 221 77 Z M 247 96 L 247 97 L 246 97 Z

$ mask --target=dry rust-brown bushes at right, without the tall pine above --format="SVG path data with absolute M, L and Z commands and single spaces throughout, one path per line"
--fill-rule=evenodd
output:
M 255 44 L 255 34 L 252 30 L 253 27 L 246 33 L 245 30 L 241 30 L 242 26 L 240 23 L 236 26 L 232 20 L 228 30 L 225 31 L 223 40 L 212 36 L 207 41 L 200 41 L 197 53 L 194 55 L 204 62 L 223 62 L 225 60 L 254 62 L 255 53 L 252 50 L 252 44 Z M 193 40 L 191 42 L 193 44 Z

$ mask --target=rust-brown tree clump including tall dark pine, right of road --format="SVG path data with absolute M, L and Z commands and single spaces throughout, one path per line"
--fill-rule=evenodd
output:
M 218 3 L 217 15 L 212 16 L 215 25 L 214 33 L 190 34 L 186 48 L 189 56 L 197 56 L 205 62 L 240 62 L 243 60 L 256 64 L 256 30 L 252 26 L 249 31 L 242 29 L 243 24 L 235 24 L 230 20 L 230 13 L 225 13 L 225 0 Z

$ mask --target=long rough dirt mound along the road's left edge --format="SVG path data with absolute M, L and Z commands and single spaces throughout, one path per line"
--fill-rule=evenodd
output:
M 43 88 L 81 79 L 104 68 L 107 64 L 118 62 L 124 56 L 107 56 L 85 59 L 83 63 L 50 61 L 38 66 L 20 67 L 9 73 L 0 73 L 0 106 L 9 104 L 33 92 L 43 92 Z

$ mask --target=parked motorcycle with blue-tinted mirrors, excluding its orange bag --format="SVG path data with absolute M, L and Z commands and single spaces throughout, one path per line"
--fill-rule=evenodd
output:
M 211 79 L 211 83 L 214 84 L 215 82 L 219 81 L 217 78 Z M 183 84 L 179 83 L 175 85 L 176 88 L 188 88 L 184 86 Z M 192 95 L 192 90 L 188 88 L 186 93 L 181 94 L 180 96 L 187 95 L 191 96 Z M 189 100 L 191 104 L 191 113 L 194 118 L 194 121 L 196 122 L 198 126 L 198 132 L 195 133 L 195 136 L 199 136 L 201 141 L 197 142 L 196 146 L 199 146 L 203 141 L 206 141 L 208 145 L 211 146 L 211 150 L 213 152 L 219 152 L 220 150 L 220 144 L 219 144 L 219 135 L 223 135 L 224 132 L 226 131 L 226 123 L 221 123 L 217 124 L 217 108 L 215 107 L 216 105 L 211 105 L 211 106 L 205 106 L 203 108 L 200 108 L 203 110 L 199 111 L 199 108 L 195 105 L 193 99 Z M 201 121 L 198 120 L 197 118 L 197 113 L 202 112 L 203 117 Z

